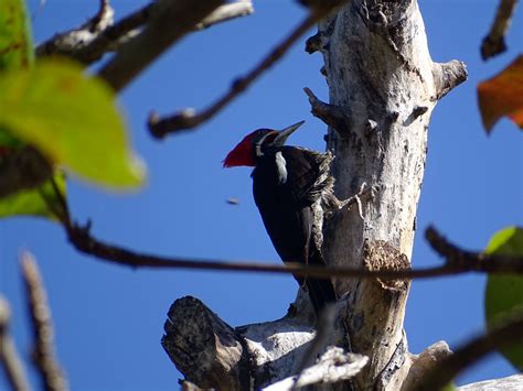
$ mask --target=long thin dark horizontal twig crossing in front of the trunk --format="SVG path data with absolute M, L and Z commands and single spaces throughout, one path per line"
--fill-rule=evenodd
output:
M 360 196 L 371 196 L 377 186 L 366 186 L 361 188 Z M 404 270 L 366 270 L 357 268 L 340 267 L 312 267 L 301 263 L 286 262 L 281 264 L 259 263 L 255 261 L 230 261 L 230 260 L 202 260 L 189 258 L 166 258 L 152 254 L 143 254 L 131 250 L 105 243 L 90 235 L 90 221 L 85 226 L 79 226 L 71 220 L 67 200 L 54 183 L 56 198 L 62 205 L 64 213 L 56 217 L 62 221 L 67 232 L 70 242 L 81 252 L 94 256 L 99 260 L 118 263 L 131 268 L 153 268 L 153 269 L 190 269 L 190 270 L 218 270 L 234 272 L 257 272 L 293 274 L 299 276 L 313 276 L 317 279 L 330 278 L 359 278 L 359 279 L 388 279 L 409 280 L 429 279 L 444 275 L 456 275 L 467 272 L 489 272 L 489 273 L 523 273 L 523 260 L 514 257 L 485 256 L 470 251 L 463 251 L 449 243 L 435 228 L 429 227 L 426 231 L 427 240 L 441 254 L 447 254 L 449 260 L 435 268 L 427 269 L 404 269 Z M 344 208 L 349 209 L 356 204 L 356 198 L 351 197 L 345 200 Z M 54 209 L 52 209 L 54 210 Z M 476 264 L 477 260 L 481 264 Z

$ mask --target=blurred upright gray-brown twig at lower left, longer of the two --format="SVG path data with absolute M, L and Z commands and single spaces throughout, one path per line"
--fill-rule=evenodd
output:
M 43 389 L 46 391 L 68 390 L 67 380 L 55 355 L 54 332 L 47 295 L 43 287 L 36 261 L 29 252 L 22 254 L 21 268 L 33 327 L 33 362 L 41 377 Z

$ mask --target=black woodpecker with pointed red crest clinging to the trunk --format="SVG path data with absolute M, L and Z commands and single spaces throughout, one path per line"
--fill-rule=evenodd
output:
M 330 213 L 343 206 L 333 194 L 330 152 L 285 145 L 305 121 L 284 130 L 258 129 L 225 158 L 224 167 L 253 166 L 253 194 L 265 228 L 284 262 L 325 265 L 314 239 L 314 208 Z M 329 280 L 295 275 L 306 286 L 316 313 L 337 300 Z

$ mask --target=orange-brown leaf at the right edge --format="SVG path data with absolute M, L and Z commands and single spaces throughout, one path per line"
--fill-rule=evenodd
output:
M 478 100 L 487 133 L 503 116 L 523 128 L 523 55 L 499 75 L 480 83 Z

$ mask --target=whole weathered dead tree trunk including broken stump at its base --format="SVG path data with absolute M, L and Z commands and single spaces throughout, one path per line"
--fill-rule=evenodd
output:
M 324 221 L 324 257 L 339 265 L 408 267 L 430 115 L 466 79 L 465 65 L 433 63 L 415 0 L 353 0 L 320 23 L 307 50 L 324 58 L 330 102 L 307 93 L 312 113 L 329 126 L 338 195 L 352 196 L 363 183 L 378 187 L 373 198 L 362 200 L 361 210 L 340 211 Z M 200 302 L 180 300 L 171 307 L 162 343 L 189 381 L 227 390 L 264 388 L 296 374 L 305 367 L 303 356 L 319 356 L 327 345 L 367 357 L 346 356 L 357 371 L 366 363 L 351 379 L 356 390 L 408 388 L 425 367 L 448 354 L 446 344 L 419 357 L 408 354 L 403 330 L 408 282 L 343 280 L 335 287 L 342 300 L 334 333 L 324 335 L 321 346 L 313 341 L 316 330 L 302 297 L 282 319 L 236 329 Z M 184 321 L 177 317 L 180 313 Z M 180 326 L 196 318 L 209 322 Z M 346 380 L 330 374 L 325 371 L 317 383 Z

